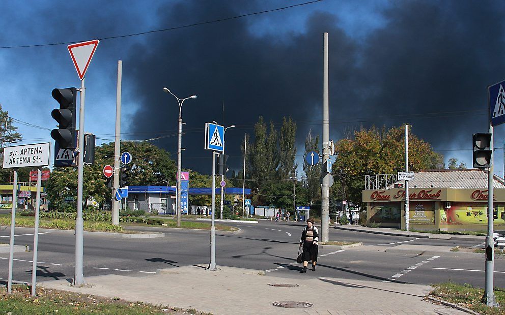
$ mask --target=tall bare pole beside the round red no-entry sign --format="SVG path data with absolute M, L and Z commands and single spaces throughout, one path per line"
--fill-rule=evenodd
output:
M 120 134 L 121 134 L 121 82 L 123 74 L 123 61 L 118 60 L 118 84 L 116 89 L 116 137 L 114 142 L 114 187 L 112 199 L 112 224 L 119 225 L 120 202 L 114 196 L 119 188 L 119 159 L 120 159 Z

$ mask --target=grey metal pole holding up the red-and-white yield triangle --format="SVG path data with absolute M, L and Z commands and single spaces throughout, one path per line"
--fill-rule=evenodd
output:
M 83 253 L 83 221 L 82 221 L 82 179 L 84 175 L 84 99 L 86 88 L 85 79 L 80 82 L 80 108 L 79 108 L 79 151 L 77 163 L 77 218 L 75 219 L 75 271 L 73 286 L 85 284 L 82 274 Z

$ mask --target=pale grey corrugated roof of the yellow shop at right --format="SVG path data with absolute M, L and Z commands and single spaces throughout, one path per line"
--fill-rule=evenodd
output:
M 404 183 L 403 180 L 396 183 Z M 394 184 L 389 185 L 390 188 Z M 409 180 L 409 187 L 413 188 L 487 188 L 488 173 L 480 169 L 465 170 L 423 170 L 415 173 Z M 505 188 L 503 179 L 494 175 L 494 188 Z

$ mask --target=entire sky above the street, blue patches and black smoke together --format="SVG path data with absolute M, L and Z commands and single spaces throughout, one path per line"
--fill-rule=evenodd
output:
M 296 3 L 302 2 L 2 2 L 0 47 L 101 39 Z M 223 103 L 225 125 L 237 125 L 227 132 L 232 167 L 241 168 L 241 139 L 260 115 L 276 123 L 292 115 L 300 154 L 308 129 L 321 133 L 322 39 L 328 31 L 332 139 L 360 125 L 409 122 L 445 160 L 455 156 L 470 165 L 471 134 L 486 131 L 486 86 L 505 79 L 503 23 L 496 18 L 503 13 L 501 4 L 490 1 L 324 0 L 103 39 L 86 75 L 85 130 L 99 141 L 114 139 L 117 62 L 123 60 L 122 139 L 165 137 L 153 143 L 176 152 L 176 137 L 166 137 L 176 130 L 178 115 L 175 99 L 162 92 L 169 86 L 180 98 L 199 96 L 183 108 L 184 167 L 207 172 L 200 158 L 207 161 L 210 154 L 199 129 L 205 121 L 222 122 Z M 22 143 L 52 143 L 46 130 L 56 124 L 51 90 L 80 86 L 67 44 L 0 48 L 0 74 L 3 109 L 42 128 L 16 124 Z M 503 147 L 501 129 L 497 147 Z M 496 153 L 495 172 L 503 175 L 501 149 Z

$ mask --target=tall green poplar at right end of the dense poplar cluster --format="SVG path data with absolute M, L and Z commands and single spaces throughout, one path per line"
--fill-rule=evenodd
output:
M 287 179 L 296 177 L 296 168 L 298 163 L 295 163 L 296 147 L 296 122 L 291 119 L 283 118 L 283 125 L 280 128 L 279 139 L 279 178 Z

